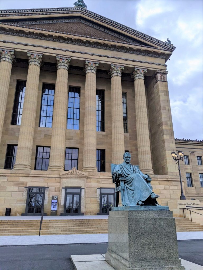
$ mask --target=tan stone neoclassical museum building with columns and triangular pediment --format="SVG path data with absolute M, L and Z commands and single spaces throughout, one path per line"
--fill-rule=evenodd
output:
M 168 205 L 182 150 L 184 194 L 203 200 L 203 141 L 173 134 L 175 47 L 74 5 L 0 10 L 0 215 L 107 215 L 124 152 Z

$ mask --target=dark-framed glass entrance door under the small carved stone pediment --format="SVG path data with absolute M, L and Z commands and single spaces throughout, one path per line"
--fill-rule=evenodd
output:
M 65 188 L 64 215 L 81 215 L 81 188 Z

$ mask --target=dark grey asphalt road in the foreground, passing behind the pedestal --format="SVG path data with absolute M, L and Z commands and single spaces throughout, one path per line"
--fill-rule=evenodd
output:
M 105 243 L 0 247 L 0 270 L 75 270 L 70 255 L 102 254 Z M 179 256 L 203 266 L 203 240 L 178 241 Z

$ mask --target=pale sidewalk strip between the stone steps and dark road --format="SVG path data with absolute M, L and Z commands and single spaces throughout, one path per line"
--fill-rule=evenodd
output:
M 178 240 L 203 239 L 203 232 L 177 232 Z M 108 234 L 1 236 L 0 246 L 107 243 Z

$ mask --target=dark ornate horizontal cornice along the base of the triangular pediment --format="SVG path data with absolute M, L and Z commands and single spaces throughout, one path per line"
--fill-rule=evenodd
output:
M 39 29 L 36 29 L 36 30 L 39 30 Z M 165 55 L 164 52 L 163 53 L 154 52 L 154 51 L 149 52 L 150 49 L 152 49 L 152 47 L 149 47 L 148 50 L 143 49 L 143 46 L 139 46 L 140 48 L 134 48 L 134 47 L 130 48 L 128 46 L 127 47 L 124 46 L 126 45 L 126 43 L 116 42 L 113 40 L 109 40 L 109 42 L 112 42 L 112 43 L 114 42 L 115 44 L 109 44 L 109 43 L 99 42 L 99 41 L 94 42 L 91 40 L 84 41 L 83 39 L 78 40 L 76 38 L 67 37 L 67 36 L 58 36 L 58 35 L 54 36 L 54 35 L 44 34 L 41 32 L 39 33 L 36 33 L 36 32 L 30 33 L 30 32 L 31 31 L 23 31 L 23 30 L 16 31 L 16 29 L 12 29 L 12 28 L 6 30 L 5 28 L 0 26 L 0 33 L 5 34 L 5 35 L 20 36 L 20 37 L 40 39 L 40 40 L 48 40 L 48 41 L 54 41 L 54 42 L 60 42 L 60 43 L 68 43 L 68 44 L 73 44 L 73 45 L 86 46 L 86 47 L 104 49 L 104 50 L 113 50 L 117 52 L 125 52 L 125 53 L 136 54 L 136 55 L 145 55 L 145 56 L 151 56 L 151 57 L 162 58 L 162 59 L 168 59 L 170 57 L 170 55 L 168 54 Z M 53 31 L 53 32 L 57 33 L 56 31 Z M 62 34 L 67 35 L 67 33 L 62 33 Z M 74 34 L 71 34 L 71 36 L 74 36 Z M 84 37 L 84 36 L 81 36 L 81 37 Z M 99 38 L 94 38 L 94 39 L 105 41 L 104 39 L 99 39 Z M 123 44 L 123 46 L 116 45 L 116 43 L 121 43 Z M 132 46 L 132 44 L 129 44 L 129 45 Z M 137 46 L 137 44 L 135 44 L 134 46 Z

